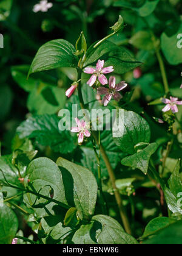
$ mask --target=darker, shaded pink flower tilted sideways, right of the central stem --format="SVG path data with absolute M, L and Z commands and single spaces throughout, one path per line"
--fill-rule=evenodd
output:
M 125 83 L 125 81 L 122 81 L 118 85 L 116 85 L 115 77 L 111 76 L 110 79 L 109 79 L 109 89 L 105 88 L 105 87 L 99 87 L 98 88 L 98 93 L 100 95 L 106 94 L 106 96 L 104 96 L 104 98 L 103 98 L 104 106 L 106 107 L 109 104 L 112 97 L 116 101 L 120 101 L 122 96 L 121 96 L 120 93 L 118 93 L 118 91 L 122 91 L 126 87 L 127 87 L 127 84 Z

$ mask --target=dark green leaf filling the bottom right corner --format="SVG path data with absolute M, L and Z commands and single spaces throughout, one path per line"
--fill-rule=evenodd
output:
M 177 221 L 161 230 L 153 238 L 144 241 L 144 244 L 182 244 L 182 221 Z

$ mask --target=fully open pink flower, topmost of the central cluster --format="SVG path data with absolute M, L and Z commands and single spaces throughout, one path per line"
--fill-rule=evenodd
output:
M 96 64 L 96 68 L 85 68 L 84 69 L 84 73 L 86 74 L 93 74 L 89 81 L 87 82 L 88 85 L 90 85 L 90 87 L 92 87 L 95 82 L 96 79 L 98 78 L 99 82 L 102 85 L 107 85 L 108 81 L 106 76 L 104 76 L 104 74 L 109 74 L 113 72 L 113 66 L 107 66 L 107 68 L 104 68 L 104 60 L 98 60 L 98 63 Z

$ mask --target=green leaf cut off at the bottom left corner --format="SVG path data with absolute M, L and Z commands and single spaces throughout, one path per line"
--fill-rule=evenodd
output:
M 0 207 L 0 244 L 11 244 L 18 231 L 18 218 L 6 205 Z

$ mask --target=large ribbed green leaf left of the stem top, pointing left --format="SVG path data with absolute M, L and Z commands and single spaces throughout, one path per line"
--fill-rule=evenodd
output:
M 29 70 L 30 74 L 54 68 L 76 68 L 78 59 L 76 49 L 66 40 L 52 40 L 38 50 Z

